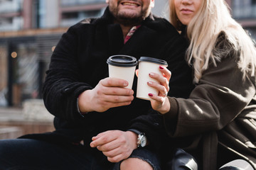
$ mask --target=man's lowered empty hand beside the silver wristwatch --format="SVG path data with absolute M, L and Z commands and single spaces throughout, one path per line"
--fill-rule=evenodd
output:
M 137 149 L 137 134 L 130 131 L 109 130 L 92 137 L 90 147 L 97 147 L 110 162 L 120 162 Z

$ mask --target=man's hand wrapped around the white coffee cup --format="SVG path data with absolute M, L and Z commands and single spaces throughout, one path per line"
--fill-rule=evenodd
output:
M 127 106 L 134 99 L 134 91 L 124 88 L 128 82 L 122 79 L 102 79 L 95 89 L 84 91 L 78 98 L 81 112 L 104 112 L 110 108 Z

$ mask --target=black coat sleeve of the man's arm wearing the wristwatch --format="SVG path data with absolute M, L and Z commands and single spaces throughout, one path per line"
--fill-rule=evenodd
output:
M 171 71 L 171 80 L 169 82 L 169 96 L 188 98 L 193 89 L 191 67 L 185 60 L 186 40 L 183 39 L 175 29 L 170 28 L 173 33 L 168 42 L 159 53 L 161 59 L 169 64 Z M 130 128 L 145 132 L 149 140 L 149 147 L 159 149 L 166 143 L 166 132 L 164 130 L 163 115 L 156 111 L 149 111 L 148 115 L 142 115 L 132 120 Z

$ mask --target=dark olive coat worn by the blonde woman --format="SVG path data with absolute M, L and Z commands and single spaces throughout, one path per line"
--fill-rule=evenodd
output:
M 220 50 L 227 42 L 225 34 L 220 35 Z M 177 147 L 196 156 L 203 170 L 217 169 L 234 158 L 247 159 L 256 169 L 255 77 L 246 74 L 243 79 L 238 56 L 234 50 L 223 52 L 221 61 L 203 72 L 188 99 L 169 98 L 166 130 L 178 140 Z

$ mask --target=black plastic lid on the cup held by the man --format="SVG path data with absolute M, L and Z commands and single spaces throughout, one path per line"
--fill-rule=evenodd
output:
M 117 67 L 134 67 L 138 62 L 135 57 L 129 55 L 113 55 L 107 59 L 107 64 Z

